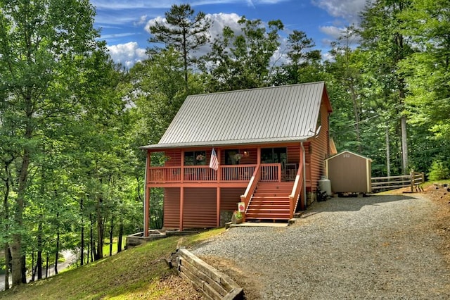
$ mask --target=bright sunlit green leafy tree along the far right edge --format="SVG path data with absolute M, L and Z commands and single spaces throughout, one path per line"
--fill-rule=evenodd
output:
M 405 99 L 411 111 L 409 119 L 417 129 L 413 141 L 418 149 L 416 166 L 429 168 L 432 161 L 450 161 L 449 4 L 415 0 L 400 18 L 401 32 L 411 37 L 414 50 L 401 62 L 401 72 L 410 90 Z

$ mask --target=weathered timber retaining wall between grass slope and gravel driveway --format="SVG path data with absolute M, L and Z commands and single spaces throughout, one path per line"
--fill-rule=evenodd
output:
M 176 252 L 176 268 L 181 278 L 191 282 L 207 299 L 244 299 L 242 287 L 183 247 Z

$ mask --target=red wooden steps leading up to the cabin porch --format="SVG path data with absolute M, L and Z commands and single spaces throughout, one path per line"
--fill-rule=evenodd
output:
M 258 182 L 245 221 L 289 220 L 289 195 L 293 186 L 293 182 Z

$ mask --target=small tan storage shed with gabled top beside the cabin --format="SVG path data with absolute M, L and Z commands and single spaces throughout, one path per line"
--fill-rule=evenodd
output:
M 372 160 L 350 151 L 325 160 L 326 176 L 334 193 L 370 193 Z

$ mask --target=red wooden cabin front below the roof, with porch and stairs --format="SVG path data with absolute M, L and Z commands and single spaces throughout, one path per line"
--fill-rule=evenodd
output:
M 219 227 L 223 211 L 236 210 L 238 202 L 245 204 L 244 215 L 249 219 L 289 220 L 299 199 L 304 201 L 305 187 L 311 187 L 309 163 L 303 163 L 305 151 L 300 143 L 215 151 L 217 170 L 209 166 L 212 148 L 167 149 L 153 156 L 149 151 L 148 162 L 153 159 L 164 165 L 148 165 L 146 169 L 145 220 L 154 187 L 165 188 L 164 226 L 179 230 L 194 223 Z M 264 183 L 275 184 L 269 195 L 261 192 Z M 304 207 L 302 202 L 300 205 Z M 145 220 L 144 235 L 149 230 Z

